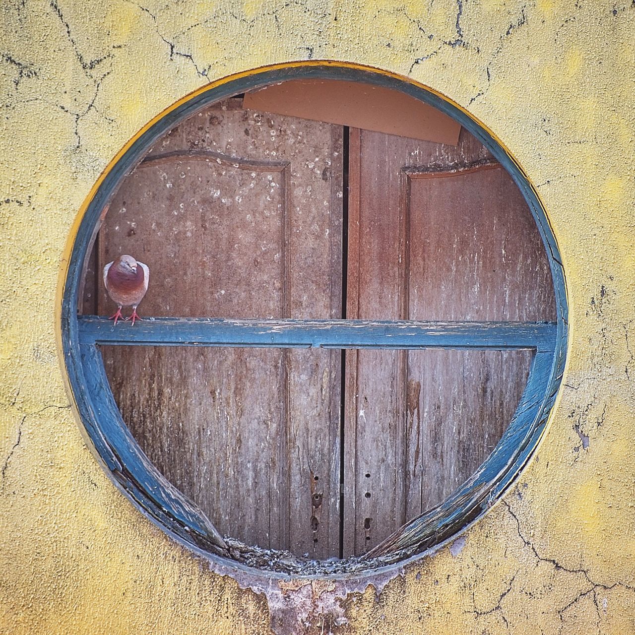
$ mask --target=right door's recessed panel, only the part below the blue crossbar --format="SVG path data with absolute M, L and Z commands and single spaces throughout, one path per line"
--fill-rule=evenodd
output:
M 490 455 L 530 364 L 530 351 L 408 352 L 402 523 L 443 502 Z

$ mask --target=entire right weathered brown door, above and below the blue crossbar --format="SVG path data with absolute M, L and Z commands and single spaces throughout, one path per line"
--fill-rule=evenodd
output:
M 448 147 L 354 131 L 353 147 L 349 318 L 554 319 L 535 222 L 476 139 L 464 130 Z M 530 359 L 347 354 L 345 554 L 368 551 L 474 472 L 512 418 Z

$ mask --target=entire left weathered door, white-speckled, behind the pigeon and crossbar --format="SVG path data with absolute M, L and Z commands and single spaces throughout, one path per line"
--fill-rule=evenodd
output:
M 342 129 L 228 100 L 126 179 L 98 270 L 120 253 L 149 265 L 142 317 L 338 318 L 341 241 Z M 104 347 L 104 362 L 142 449 L 220 531 L 338 555 L 339 352 Z

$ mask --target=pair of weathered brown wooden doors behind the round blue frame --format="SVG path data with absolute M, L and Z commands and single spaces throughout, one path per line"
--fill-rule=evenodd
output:
M 150 267 L 142 316 L 554 314 L 525 201 L 465 131 L 451 147 L 228 100 L 172 130 L 119 189 L 95 269 L 122 253 Z M 84 310 L 107 314 L 96 290 Z M 523 351 L 102 353 L 140 446 L 222 533 L 313 558 L 366 552 L 460 485 L 530 363 Z

